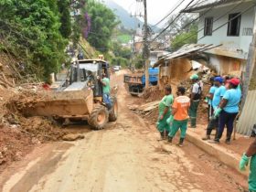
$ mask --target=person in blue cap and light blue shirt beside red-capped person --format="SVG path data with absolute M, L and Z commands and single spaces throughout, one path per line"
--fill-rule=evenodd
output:
M 216 87 L 216 91 L 214 92 L 214 96 L 212 99 L 212 108 L 213 111 L 217 110 L 219 107 L 219 103 L 222 100 L 222 97 L 224 96 L 225 92 L 226 92 L 226 88 L 225 86 L 223 86 L 223 78 L 221 77 L 216 77 L 214 79 L 214 85 Z M 209 140 L 210 139 L 210 134 L 212 132 L 213 129 L 216 129 L 216 135 L 218 133 L 218 127 L 219 127 L 219 117 L 212 117 L 208 123 L 208 128 L 207 128 L 207 135 L 203 138 L 203 140 Z

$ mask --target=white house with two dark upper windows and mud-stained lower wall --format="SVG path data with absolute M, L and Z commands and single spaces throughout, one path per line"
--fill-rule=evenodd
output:
M 219 74 L 245 71 L 252 41 L 256 0 L 205 0 L 183 10 L 198 13 L 198 44 L 221 45 L 205 51 Z M 240 74 L 241 75 L 241 74 Z

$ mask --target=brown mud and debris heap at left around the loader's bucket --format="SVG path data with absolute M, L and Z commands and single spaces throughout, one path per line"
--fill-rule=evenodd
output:
M 84 138 L 82 134 L 75 134 L 81 132 L 79 130 L 64 130 L 50 118 L 27 118 L 19 111 L 29 101 L 47 98 L 41 84 L 0 91 L 0 172 L 12 161 L 22 159 L 37 144 Z M 74 133 L 72 138 L 69 133 Z

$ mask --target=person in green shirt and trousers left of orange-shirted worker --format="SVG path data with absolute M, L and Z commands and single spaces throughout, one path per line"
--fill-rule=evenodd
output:
M 167 123 L 167 119 L 171 116 L 171 107 L 174 102 L 174 96 L 172 95 L 172 87 L 170 85 L 165 86 L 165 97 L 160 101 L 158 110 L 158 122 L 156 123 L 157 129 L 160 132 L 161 140 L 165 139 L 165 136 L 170 132 L 170 124 Z

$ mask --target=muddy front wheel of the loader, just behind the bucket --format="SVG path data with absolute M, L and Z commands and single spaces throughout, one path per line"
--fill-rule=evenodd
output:
M 109 112 L 107 108 L 103 106 L 95 107 L 89 117 L 88 123 L 96 130 L 104 128 L 106 123 L 109 121 Z

